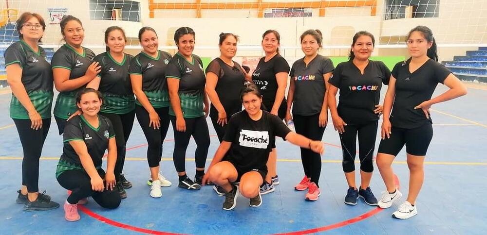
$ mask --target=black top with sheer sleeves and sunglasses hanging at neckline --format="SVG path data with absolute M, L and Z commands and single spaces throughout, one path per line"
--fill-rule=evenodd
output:
M 240 90 L 245 83 L 245 74 L 242 72 L 240 65 L 233 62 L 234 66 L 227 65 L 222 59 L 216 58 L 206 67 L 206 73 L 212 72 L 218 77 L 215 91 L 222 103 L 227 117 L 242 110 L 242 101 L 240 101 Z M 210 117 L 218 119 L 218 111 L 211 104 Z

